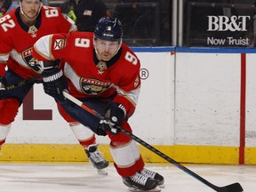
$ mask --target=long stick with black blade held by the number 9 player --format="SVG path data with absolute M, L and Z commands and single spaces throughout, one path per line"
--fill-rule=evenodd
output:
M 68 92 L 63 92 L 63 95 L 68 99 L 71 100 L 72 102 L 74 102 L 76 105 L 80 106 L 81 108 L 84 108 L 86 111 L 88 111 L 89 113 L 91 113 L 94 116 L 97 116 L 98 118 L 100 118 L 101 120 L 105 119 L 104 116 L 101 116 L 97 111 L 95 111 L 92 108 L 89 108 L 88 106 L 86 106 L 83 102 L 81 102 L 80 100 L 77 100 L 75 97 L 73 97 L 72 95 L 68 94 Z M 206 186 L 214 189 L 215 191 L 218 192 L 242 192 L 244 191 L 244 189 L 242 188 L 242 186 L 239 183 L 233 183 L 231 185 L 225 186 L 225 187 L 218 187 L 213 185 L 211 182 L 204 180 L 204 178 L 202 178 L 201 176 L 197 175 L 195 172 L 190 171 L 188 168 L 186 168 L 185 166 L 183 166 L 182 164 L 179 164 L 178 162 L 174 161 L 171 157 L 164 155 L 164 153 L 162 153 L 161 151 L 157 150 L 156 148 L 152 147 L 151 145 L 149 145 L 147 142 L 140 140 L 140 138 L 138 138 L 137 136 L 133 135 L 131 132 L 127 132 L 126 130 L 124 130 L 123 128 L 120 128 L 121 132 L 124 132 L 124 134 L 126 134 L 127 136 L 129 136 L 130 138 L 132 138 L 132 140 L 135 140 L 136 142 L 140 143 L 140 145 L 144 146 L 145 148 L 148 148 L 149 150 L 151 150 L 153 153 L 155 153 L 158 156 L 161 156 L 162 158 L 164 158 L 164 160 L 170 162 L 171 164 L 174 164 L 176 167 L 178 167 L 180 170 L 188 173 L 190 176 L 194 177 L 196 180 L 200 180 L 201 182 L 203 182 Z

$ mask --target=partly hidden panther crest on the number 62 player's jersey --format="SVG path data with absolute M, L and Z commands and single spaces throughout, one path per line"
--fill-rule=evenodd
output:
M 38 60 L 32 57 L 32 47 L 21 52 L 22 59 L 28 65 L 28 68 L 31 68 L 35 72 L 40 72 L 40 65 Z

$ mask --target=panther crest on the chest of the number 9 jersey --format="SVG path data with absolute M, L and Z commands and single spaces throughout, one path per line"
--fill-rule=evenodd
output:
M 97 95 L 110 88 L 110 82 L 102 82 L 98 79 L 84 78 L 80 79 L 82 91 L 86 94 Z

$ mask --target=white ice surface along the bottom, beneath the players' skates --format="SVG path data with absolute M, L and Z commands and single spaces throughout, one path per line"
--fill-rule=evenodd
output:
M 223 187 L 239 182 L 245 192 L 256 190 L 256 165 L 184 164 L 204 180 Z M 164 176 L 162 192 L 215 191 L 172 164 L 146 164 Z M 99 175 L 91 164 L 0 164 L 0 192 L 124 192 L 113 164 Z

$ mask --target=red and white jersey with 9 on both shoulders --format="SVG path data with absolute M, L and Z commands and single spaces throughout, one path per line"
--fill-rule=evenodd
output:
M 69 35 L 44 36 L 36 42 L 33 56 L 37 60 L 65 61 L 64 74 L 70 93 L 76 98 L 108 98 L 117 92 L 114 101 L 122 103 L 131 114 L 140 93 L 140 60 L 125 44 L 116 54 L 113 65 L 100 68 L 95 59 L 93 33 L 74 32 Z

